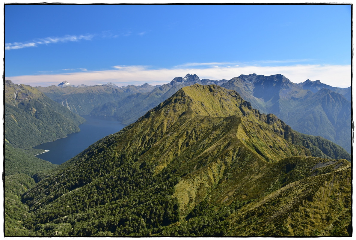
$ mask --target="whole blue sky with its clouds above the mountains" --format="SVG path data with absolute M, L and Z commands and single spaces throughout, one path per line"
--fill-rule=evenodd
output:
M 6 5 L 4 26 L 17 84 L 280 73 L 351 86 L 350 5 Z

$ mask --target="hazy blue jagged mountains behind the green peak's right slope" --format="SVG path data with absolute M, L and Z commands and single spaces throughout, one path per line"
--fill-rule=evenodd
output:
M 221 86 L 239 92 L 254 108 L 275 114 L 294 130 L 329 139 L 351 153 L 351 102 L 345 98 L 351 96 L 351 88 L 317 83 L 250 74 Z

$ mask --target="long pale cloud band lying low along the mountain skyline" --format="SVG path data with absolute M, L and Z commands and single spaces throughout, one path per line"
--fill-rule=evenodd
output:
M 241 74 L 274 75 L 282 74 L 291 82 L 300 83 L 309 79 L 334 87 L 351 86 L 351 65 L 293 65 L 293 66 L 244 66 L 244 67 L 210 67 L 210 68 L 173 68 L 149 69 L 148 66 L 114 66 L 114 70 L 72 72 L 53 75 L 27 75 L 5 77 L 17 84 L 30 86 L 58 85 L 68 81 L 73 85 L 95 85 L 113 82 L 117 86 L 124 85 L 162 85 L 173 80 L 174 77 L 184 77 L 187 73 L 197 74 L 200 79 L 230 80 Z

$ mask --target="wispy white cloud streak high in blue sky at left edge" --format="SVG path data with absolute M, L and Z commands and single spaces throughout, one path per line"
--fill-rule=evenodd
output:
M 20 49 L 20 48 L 25 48 L 25 47 L 37 47 L 38 45 L 41 44 L 51 44 L 51 43 L 57 43 L 57 42 L 76 42 L 79 40 L 91 40 L 94 37 L 94 35 L 87 34 L 87 35 L 66 35 L 63 37 L 46 37 L 44 39 L 35 39 L 30 42 L 13 42 L 13 43 L 6 43 L 5 44 L 5 50 L 11 50 L 11 49 Z

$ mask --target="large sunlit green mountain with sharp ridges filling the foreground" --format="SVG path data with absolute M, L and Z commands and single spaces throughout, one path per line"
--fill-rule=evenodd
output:
M 350 155 L 322 142 L 329 151 L 235 91 L 184 87 L 42 174 L 22 195 L 31 217 L 18 228 L 44 236 L 349 235 L 351 164 L 342 158 Z

